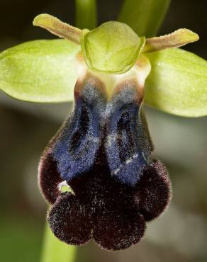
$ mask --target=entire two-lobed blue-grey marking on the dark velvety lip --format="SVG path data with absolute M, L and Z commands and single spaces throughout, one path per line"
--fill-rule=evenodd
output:
M 61 178 L 70 181 L 89 171 L 101 139 L 106 139 L 106 159 L 111 176 L 134 186 L 147 165 L 144 150 L 150 144 L 150 138 L 142 128 L 135 86 L 128 86 L 127 90 L 123 88 L 109 102 L 96 86 L 86 84 L 83 90 L 55 144 L 54 157 Z M 93 92 L 94 96 L 91 95 Z M 126 96 L 128 93 L 130 96 Z

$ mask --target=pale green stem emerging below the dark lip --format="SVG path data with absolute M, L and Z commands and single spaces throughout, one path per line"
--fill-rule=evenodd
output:
M 76 246 L 59 241 L 46 225 L 40 262 L 74 262 L 76 251 Z

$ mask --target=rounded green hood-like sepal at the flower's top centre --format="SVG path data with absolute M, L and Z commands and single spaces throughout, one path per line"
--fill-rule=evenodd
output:
M 82 30 L 81 45 L 92 70 L 122 74 L 135 64 L 145 38 L 139 38 L 125 23 L 110 21 L 91 31 Z

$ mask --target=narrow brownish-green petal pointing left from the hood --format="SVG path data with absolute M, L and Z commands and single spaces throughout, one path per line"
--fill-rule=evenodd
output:
M 72 25 L 63 23 L 55 16 L 50 16 L 47 13 L 42 13 L 35 17 L 33 25 L 40 26 L 50 31 L 50 33 L 59 36 L 60 38 L 68 39 L 79 44 L 81 30 Z

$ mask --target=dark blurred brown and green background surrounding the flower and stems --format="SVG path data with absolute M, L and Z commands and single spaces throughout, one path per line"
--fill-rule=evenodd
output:
M 115 20 L 121 0 L 99 0 L 99 23 Z M 207 58 L 206 0 L 172 0 L 161 35 L 189 28 L 201 40 L 184 49 Z M 34 28 L 50 13 L 74 25 L 74 1 L 1 0 L 0 51 L 18 43 L 53 38 Z M 40 154 L 72 105 L 33 104 L 0 93 L 0 261 L 38 262 L 46 205 L 38 191 Z M 207 261 L 207 118 L 180 118 L 146 108 L 155 155 L 169 169 L 173 198 L 167 212 L 148 225 L 140 244 L 106 252 L 93 242 L 79 248 L 77 262 Z M 61 261 L 57 261 L 61 262 Z

